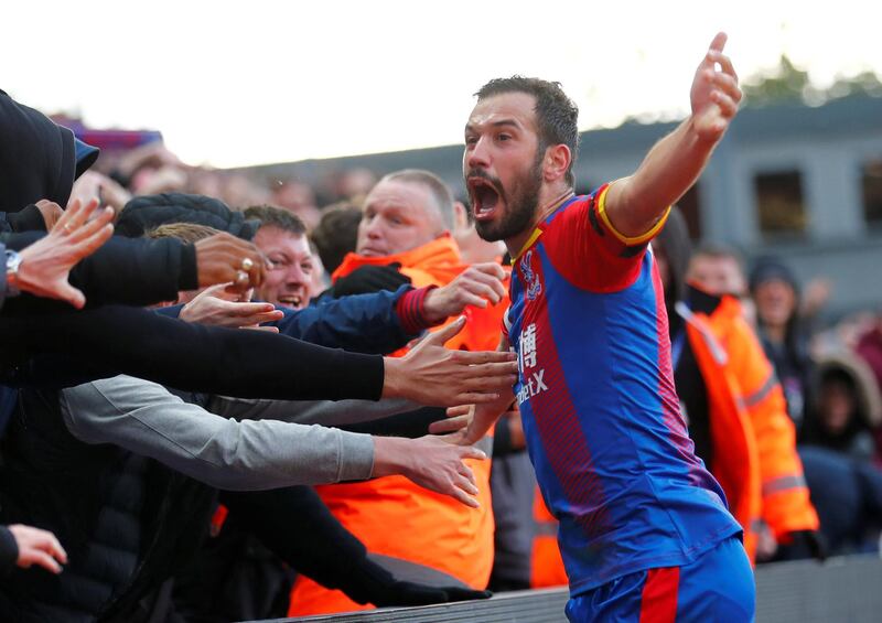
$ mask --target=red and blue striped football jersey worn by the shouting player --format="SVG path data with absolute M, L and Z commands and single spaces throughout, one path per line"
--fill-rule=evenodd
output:
M 576 595 L 688 565 L 741 528 L 693 453 L 674 388 L 667 313 L 647 251 L 607 186 L 563 203 L 513 261 L 515 395 Z

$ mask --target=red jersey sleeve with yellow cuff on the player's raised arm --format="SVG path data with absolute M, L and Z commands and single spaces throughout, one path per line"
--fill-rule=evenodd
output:
M 665 226 L 668 208 L 646 234 L 628 237 L 606 214 L 604 184 L 593 194 L 564 207 L 546 224 L 545 248 L 555 268 L 571 283 L 592 292 L 616 292 L 639 276 L 649 241 Z

